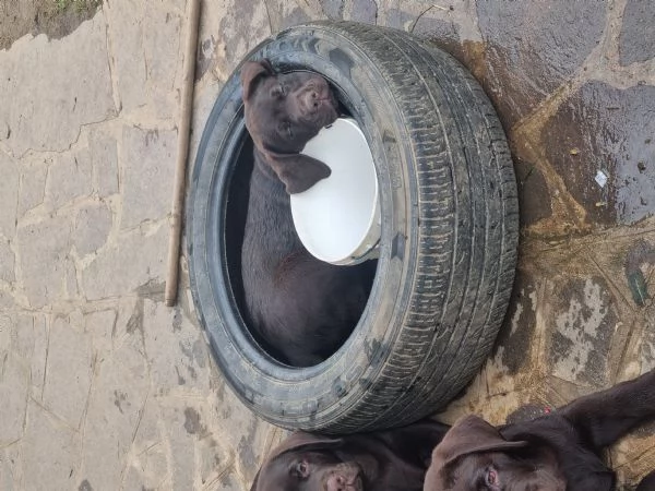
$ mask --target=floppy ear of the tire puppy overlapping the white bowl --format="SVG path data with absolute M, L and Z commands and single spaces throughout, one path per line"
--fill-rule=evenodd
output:
M 266 160 L 289 194 L 301 193 L 330 176 L 330 167 L 303 154 L 267 153 Z

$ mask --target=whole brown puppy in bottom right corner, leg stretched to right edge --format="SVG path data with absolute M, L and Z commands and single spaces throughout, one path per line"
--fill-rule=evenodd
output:
M 655 419 L 655 371 L 532 421 L 460 419 L 432 453 L 425 491 L 610 491 L 603 450 Z M 650 475 L 640 491 L 655 490 Z

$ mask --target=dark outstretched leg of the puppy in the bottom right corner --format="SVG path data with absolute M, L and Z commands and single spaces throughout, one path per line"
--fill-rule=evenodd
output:
M 580 397 L 560 414 L 573 422 L 581 436 L 595 448 L 611 445 L 632 428 L 655 419 L 655 370 Z

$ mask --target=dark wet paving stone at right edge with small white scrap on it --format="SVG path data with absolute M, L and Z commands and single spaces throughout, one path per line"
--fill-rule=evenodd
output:
M 590 82 L 546 127 L 547 156 L 590 221 L 633 224 L 655 211 L 653 115 L 655 87 Z

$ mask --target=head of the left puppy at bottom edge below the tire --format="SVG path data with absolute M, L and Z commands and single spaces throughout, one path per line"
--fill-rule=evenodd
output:
M 344 462 L 342 439 L 296 432 L 262 465 L 250 491 L 364 491 L 356 462 Z

